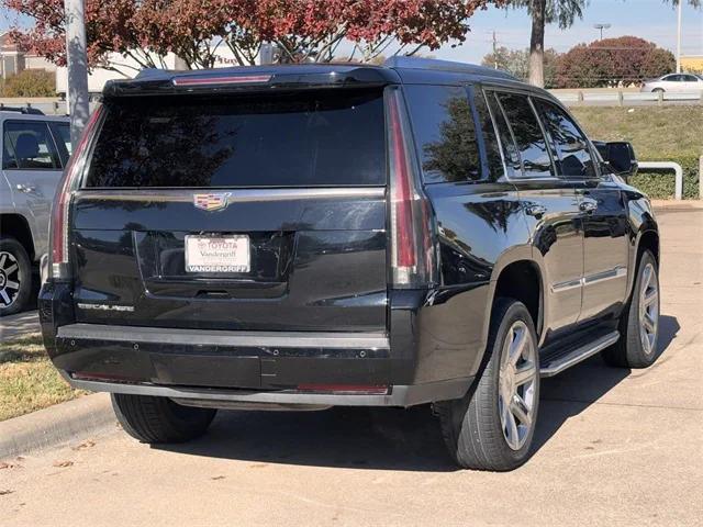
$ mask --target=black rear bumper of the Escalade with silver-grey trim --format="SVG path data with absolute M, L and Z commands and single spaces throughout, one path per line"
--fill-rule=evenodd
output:
M 460 397 L 471 382 L 403 382 L 408 361 L 382 333 L 68 324 L 53 344 L 52 360 L 75 388 L 197 406 L 412 406 Z

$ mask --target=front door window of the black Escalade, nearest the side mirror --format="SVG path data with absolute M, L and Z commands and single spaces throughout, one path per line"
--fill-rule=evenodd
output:
M 557 148 L 559 175 L 567 178 L 596 177 L 588 139 L 573 120 L 550 102 L 539 99 L 533 99 L 533 102 Z

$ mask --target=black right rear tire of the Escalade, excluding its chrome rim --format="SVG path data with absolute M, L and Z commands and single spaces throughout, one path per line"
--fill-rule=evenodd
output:
M 506 339 L 512 338 L 513 326 L 522 321 L 534 346 L 534 383 L 532 384 L 532 423 L 527 427 L 524 444 L 518 449 L 510 447 L 500 415 L 500 370 Z M 523 329 L 524 330 L 524 329 Z M 460 400 L 435 405 L 442 434 L 449 455 L 465 469 L 506 471 L 523 464 L 529 453 L 537 410 L 539 405 L 539 365 L 535 326 L 522 302 L 498 299 L 493 306 L 487 346 L 487 362 L 475 385 Z

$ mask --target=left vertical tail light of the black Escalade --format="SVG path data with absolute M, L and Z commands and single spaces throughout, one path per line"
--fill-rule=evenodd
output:
M 70 268 L 68 266 L 68 211 L 72 193 L 78 186 L 78 180 L 86 164 L 88 143 L 96 124 L 102 115 L 102 106 L 98 106 L 88 120 L 78 146 L 71 154 L 70 159 L 68 159 L 68 165 L 66 165 L 64 176 L 54 197 L 49 227 L 52 247 L 49 277 L 54 280 L 70 278 Z

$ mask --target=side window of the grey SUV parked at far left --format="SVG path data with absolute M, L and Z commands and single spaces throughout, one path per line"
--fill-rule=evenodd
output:
M 20 170 L 60 169 L 58 153 L 46 123 L 5 122 L 3 144 Z

